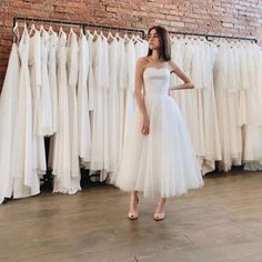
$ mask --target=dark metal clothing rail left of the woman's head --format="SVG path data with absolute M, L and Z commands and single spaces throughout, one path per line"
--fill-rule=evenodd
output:
M 77 21 L 69 21 L 69 20 L 54 20 L 54 19 L 41 19 L 41 18 L 23 18 L 23 17 L 14 17 L 13 18 L 13 27 L 16 26 L 16 23 L 18 21 L 79 26 L 79 27 L 81 27 L 83 29 L 83 32 L 85 31 L 87 28 L 98 28 L 98 29 L 117 30 L 117 31 L 124 31 L 124 32 L 137 32 L 137 33 L 141 33 L 143 39 L 145 37 L 145 31 L 143 29 L 137 29 L 137 28 L 121 28 L 121 27 L 111 27 L 111 26 L 80 22 L 80 21 L 77 22 Z

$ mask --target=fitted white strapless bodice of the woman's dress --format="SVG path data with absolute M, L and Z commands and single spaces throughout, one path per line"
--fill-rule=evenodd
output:
M 144 95 L 168 95 L 170 71 L 168 68 L 147 68 L 143 72 Z

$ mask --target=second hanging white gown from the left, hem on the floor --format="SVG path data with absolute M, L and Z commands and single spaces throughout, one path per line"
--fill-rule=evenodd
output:
M 11 165 L 14 199 L 40 193 L 40 181 L 33 159 L 36 151 L 33 151 L 32 89 L 28 66 L 29 47 L 29 33 L 28 30 L 24 29 L 18 47 L 21 68 L 19 75 L 19 93 L 16 109 Z

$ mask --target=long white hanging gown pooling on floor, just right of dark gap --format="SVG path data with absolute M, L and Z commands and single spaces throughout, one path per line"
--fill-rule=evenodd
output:
M 80 188 L 80 178 L 71 177 L 70 134 L 69 134 L 69 91 L 67 77 L 67 34 L 59 33 L 58 40 L 58 132 L 54 139 L 53 192 L 73 194 Z

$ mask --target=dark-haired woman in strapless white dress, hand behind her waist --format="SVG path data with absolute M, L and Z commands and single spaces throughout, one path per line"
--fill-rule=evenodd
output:
M 117 187 L 131 192 L 129 219 L 139 218 L 138 192 L 158 195 L 153 214 L 164 219 L 168 198 L 203 185 L 190 137 L 172 98 L 169 97 L 170 74 L 184 81 L 171 88 L 193 89 L 194 85 L 170 60 L 171 47 L 163 27 L 149 30 L 149 53 L 137 62 L 134 97 L 138 110 L 124 144 Z

